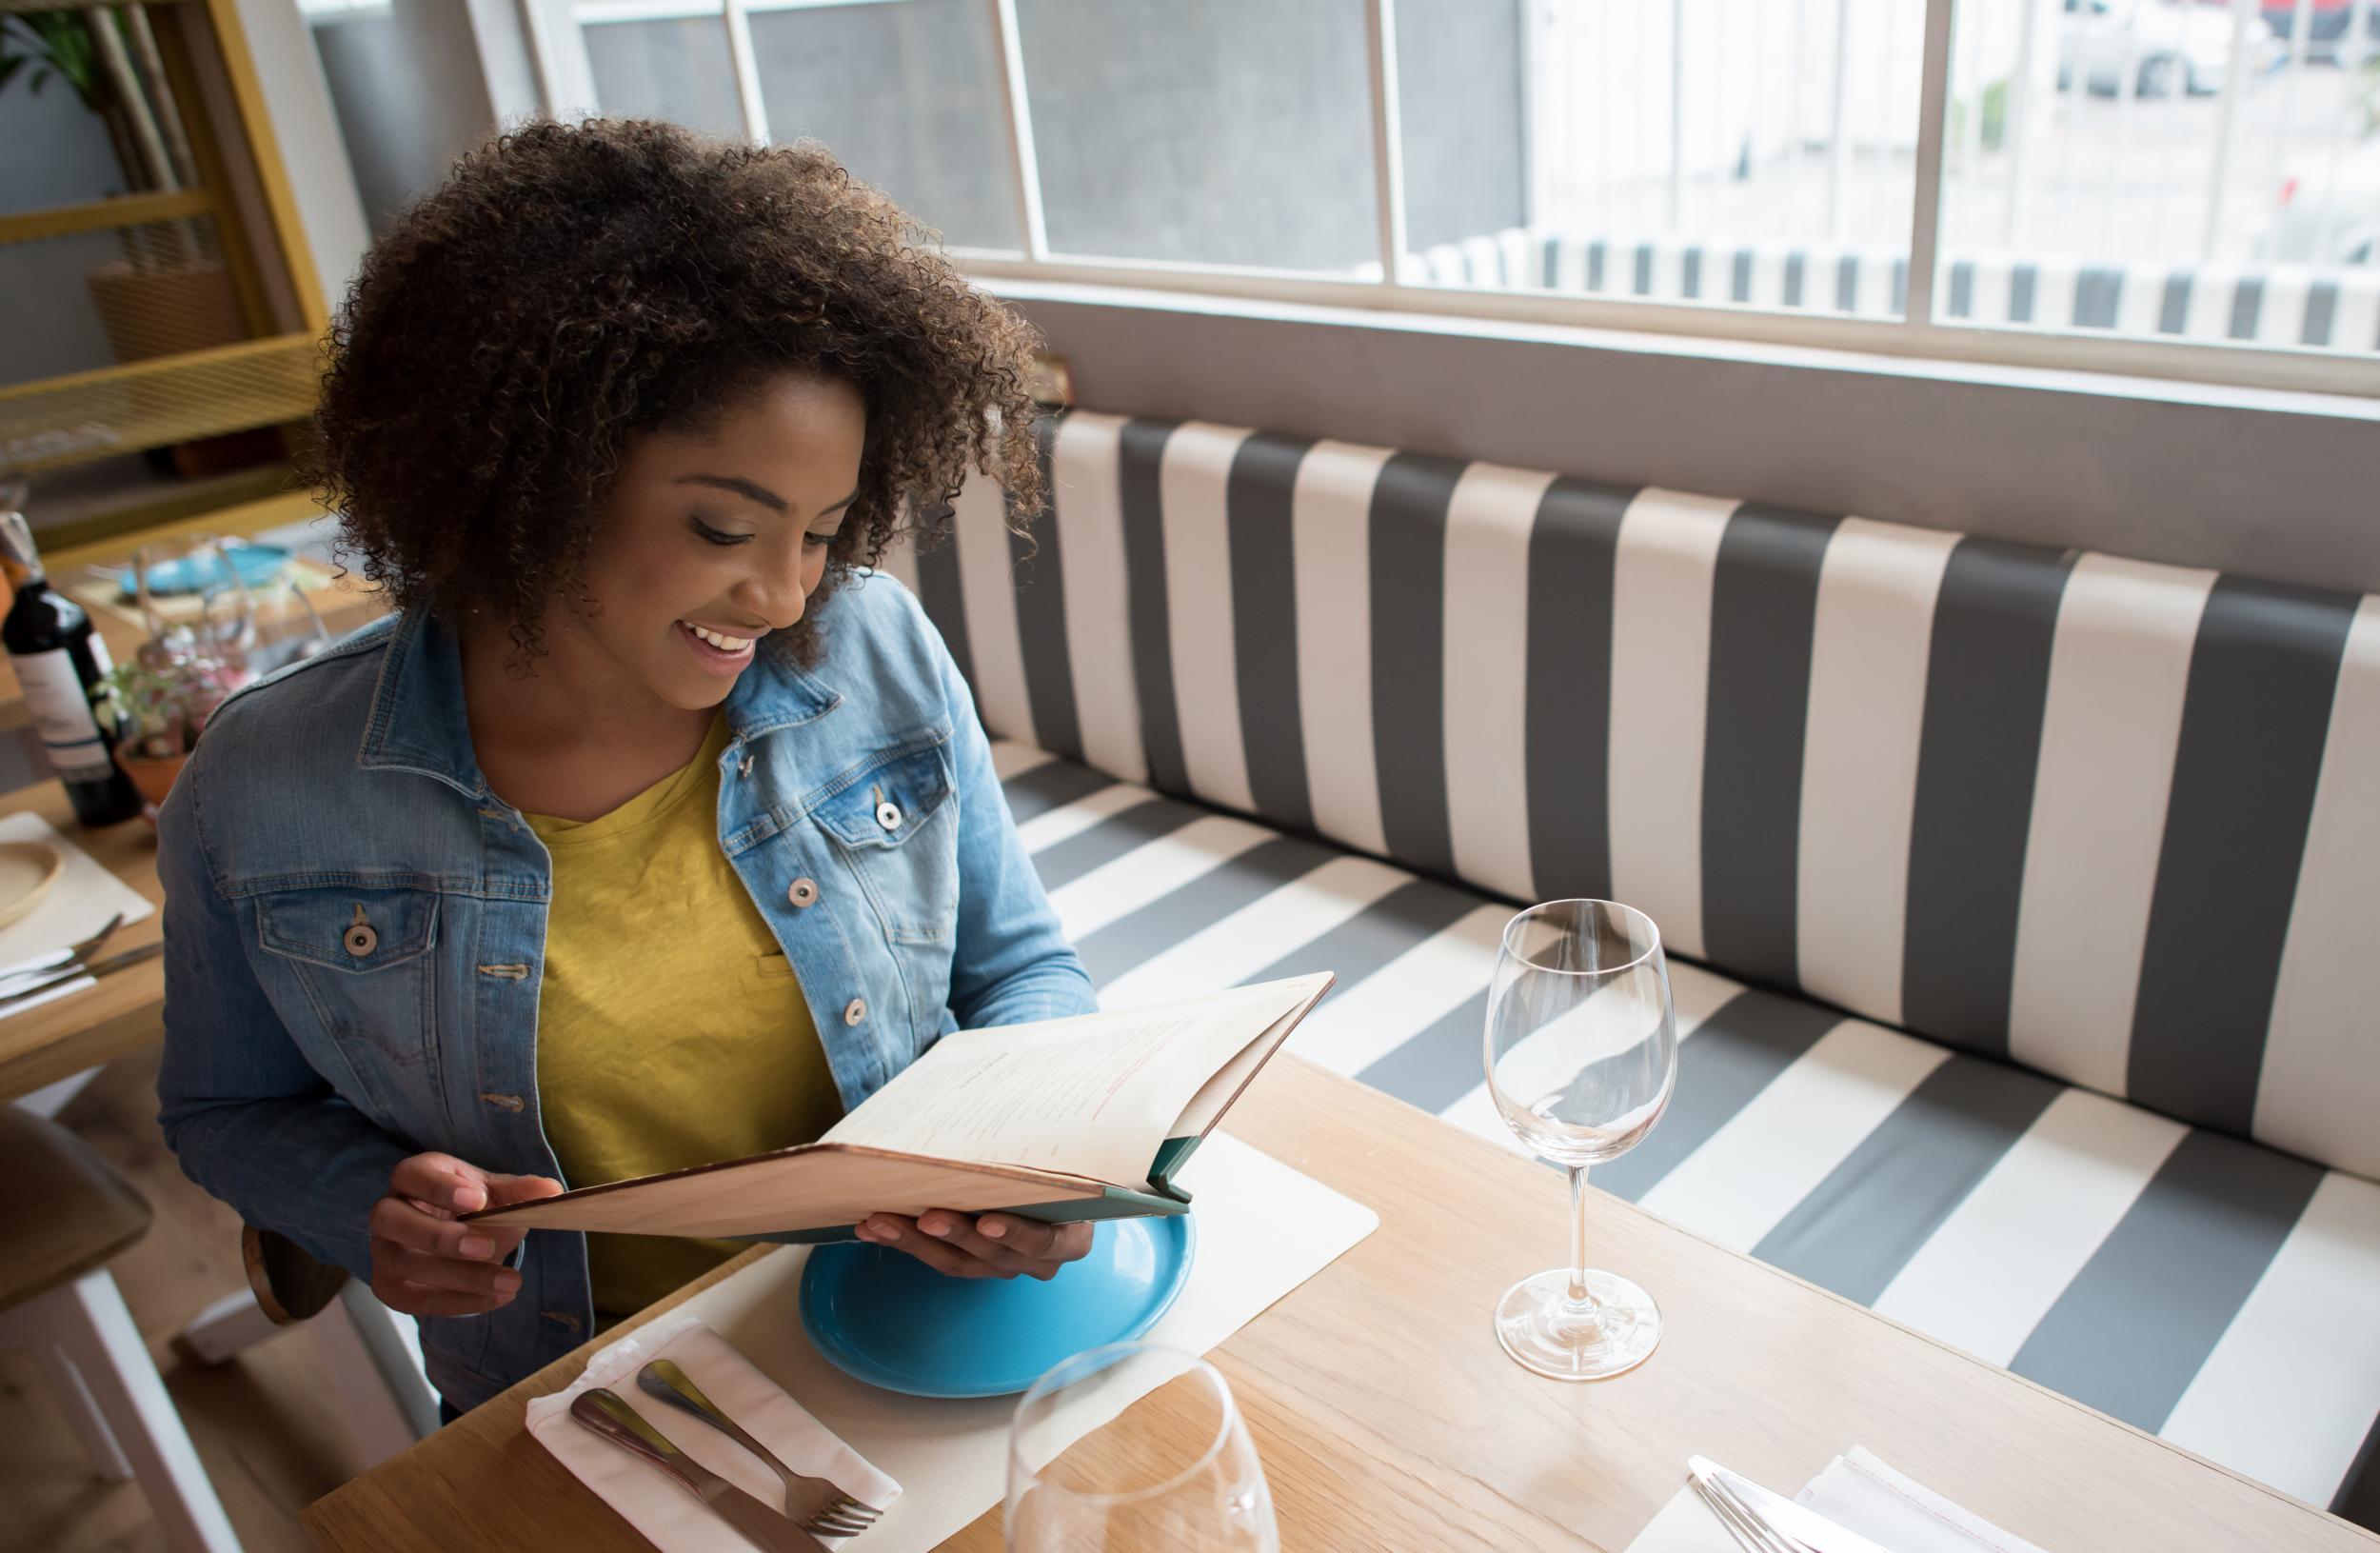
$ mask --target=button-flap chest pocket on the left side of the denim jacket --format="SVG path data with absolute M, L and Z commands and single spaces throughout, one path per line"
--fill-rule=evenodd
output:
M 257 896 L 262 969 L 295 986 L 383 1105 L 438 1093 L 438 891 L 307 886 Z M 352 1053 L 364 1046 L 371 1062 Z

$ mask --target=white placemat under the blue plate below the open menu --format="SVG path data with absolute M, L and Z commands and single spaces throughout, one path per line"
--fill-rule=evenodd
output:
M 1214 1134 L 1185 1181 L 1197 1212 L 1197 1258 L 1173 1308 L 1147 1341 L 1207 1353 L 1273 1301 L 1328 1267 L 1380 1224 L 1380 1215 L 1259 1153 Z M 807 1246 L 788 1246 L 681 1310 L 700 1317 L 819 1424 L 902 1486 L 866 1553 L 923 1553 L 1007 1491 L 1014 1396 L 935 1401 L 878 1391 L 843 1374 L 809 1346 L 797 1315 Z M 1152 1377 L 1154 1384 L 1154 1377 Z M 1102 1420 L 1083 1417 L 1088 1434 Z

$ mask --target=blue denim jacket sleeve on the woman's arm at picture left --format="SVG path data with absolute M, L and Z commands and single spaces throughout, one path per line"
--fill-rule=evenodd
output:
M 183 1174 L 257 1229 L 371 1279 L 371 1205 L 416 1153 L 381 1131 L 298 1050 L 248 962 L 214 884 L 205 767 L 193 760 L 157 822 L 164 881 L 164 1065 L 157 1124 Z

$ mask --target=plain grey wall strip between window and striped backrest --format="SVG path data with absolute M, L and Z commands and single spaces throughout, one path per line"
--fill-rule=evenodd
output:
M 1092 410 L 1216 419 L 2380 593 L 2380 400 L 2192 403 L 1685 341 L 1233 317 L 1004 283 Z M 1288 312 L 1288 310 L 1285 310 Z M 1507 331 L 1521 333 L 1521 331 Z M 2052 386 L 2056 383 L 2056 386 Z

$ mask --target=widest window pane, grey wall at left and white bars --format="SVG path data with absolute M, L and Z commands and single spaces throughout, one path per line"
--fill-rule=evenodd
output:
M 1399 0 L 1402 279 L 1894 319 L 1916 0 Z

